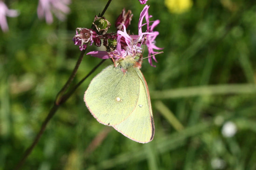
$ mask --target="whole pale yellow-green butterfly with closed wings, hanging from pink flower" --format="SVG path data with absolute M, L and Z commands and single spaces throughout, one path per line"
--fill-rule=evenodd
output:
M 103 69 L 85 91 L 84 101 L 102 124 L 137 142 L 154 137 L 154 120 L 146 81 L 140 71 L 141 57 L 120 58 Z

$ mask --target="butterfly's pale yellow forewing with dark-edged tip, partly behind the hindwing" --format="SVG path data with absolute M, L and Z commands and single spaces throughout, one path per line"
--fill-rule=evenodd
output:
M 113 127 L 132 140 L 147 143 L 153 139 L 155 133 L 150 95 L 143 74 L 139 69 L 134 70 L 137 71 L 140 81 L 138 103 L 128 118 Z

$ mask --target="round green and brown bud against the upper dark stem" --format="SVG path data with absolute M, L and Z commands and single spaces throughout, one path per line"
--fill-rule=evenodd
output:
M 95 26 L 97 33 L 99 35 L 105 34 L 109 27 L 111 26 L 110 22 L 106 20 L 105 17 L 97 17 L 97 15 L 94 18 L 93 25 Z

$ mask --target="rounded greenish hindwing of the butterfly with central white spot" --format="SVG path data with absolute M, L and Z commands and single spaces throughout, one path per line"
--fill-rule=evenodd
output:
M 115 125 L 125 120 L 136 108 L 140 80 L 135 69 L 123 72 L 108 66 L 89 84 L 84 101 L 91 114 L 102 124 Z

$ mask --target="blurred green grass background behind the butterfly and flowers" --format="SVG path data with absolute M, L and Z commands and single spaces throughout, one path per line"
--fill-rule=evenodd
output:
M 37 17 L 37 1 L 6 2 L 20 15 L 8 18 L 9 32 L 0 32 L 1 170 L 21 158 L 68 79 L 80 54 L 72 41 L 75 28 L 90 27 L 105 3 L 73 0 L 66 21 L 47 25 Z M 171 13 L 163 0 L 147 4 L 152 19 L 161 21 L 156 45 L 165 48 L 156 68 L 144 61 L 141 69 L 152 99 L 154 140 L 134 142 L 87 110 L 84 91 L 111 64 L 106 61 L 59 108 L 23 169 L 256 169 L 255 2 L 197 0 L 182 14 Z M 109 32 L 124 7 L 134 14 L 129 29 L 136 34 L 144 7 L 137 0 L 111 2 L 104 15 L 113 25 Z M 74 82 L 100 61 L 85 56 Z M 236 124 L 233 137 L 222 134 L 227 121 Z

